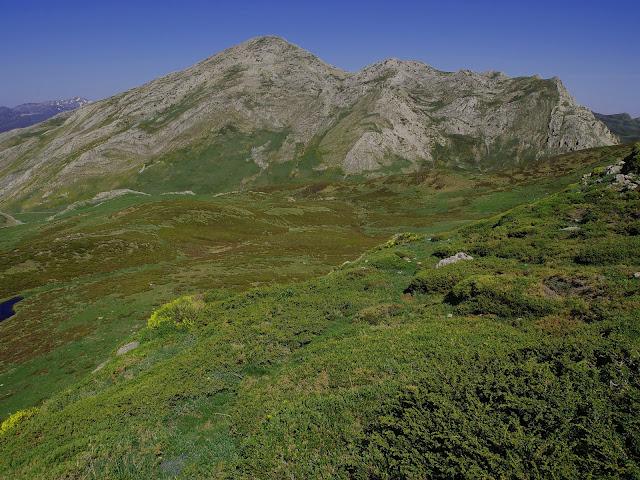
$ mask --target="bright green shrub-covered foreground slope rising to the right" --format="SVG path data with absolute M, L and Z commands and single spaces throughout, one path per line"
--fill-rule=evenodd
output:
M 11 478 L 635 478 L 640 194 L 612 177 L 162 307 L 0 433 Z M 435 269 L 464 251 L 472 261 Z

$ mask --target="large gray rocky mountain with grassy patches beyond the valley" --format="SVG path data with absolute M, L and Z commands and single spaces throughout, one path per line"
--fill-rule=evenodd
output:
M 64 204 L 114 185 L 147 191 L 171 176 L 186 180 L 163 191 L 205 193 L 188 182 L 195 170 L 215 192 L 269 183 L 276 169 L 290 177 L 488 169 L 617 141 L 556 78 L 397 59 L 349 73 L 277 37 L 54 120 L 0 134 L 0 206 Z M 214 182 L 221 174 L 231 180 Z

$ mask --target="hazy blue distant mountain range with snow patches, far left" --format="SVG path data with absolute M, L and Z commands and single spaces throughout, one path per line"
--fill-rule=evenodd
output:
M 14 108 L 0 107 L 0 132 L 28 127 L 47 120 L 60 112 L 75 110 L 87 103 L 89 100 L 86 98 L 74 97 L 41 103 L 23 103 Z

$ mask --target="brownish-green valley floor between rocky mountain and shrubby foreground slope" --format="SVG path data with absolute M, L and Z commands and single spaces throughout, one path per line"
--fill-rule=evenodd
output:
M 154 308 L 208 288 L 304 280 L 394 233 L 436 233 L 575 181 L 627 147 L 491 175 L 433 170 L 224 196 L 124 196 L 0 230 L 0 418 L 101 364 Z M 14 212 L 15 213 L 15 212 Z

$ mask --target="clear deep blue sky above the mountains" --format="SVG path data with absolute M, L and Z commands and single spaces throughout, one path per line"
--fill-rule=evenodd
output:
M 640 116 L 640 0 L 0 0 L 0 105 L 96 100 L 264 34 L 357 70 L 559 76 L 577 100 Z

